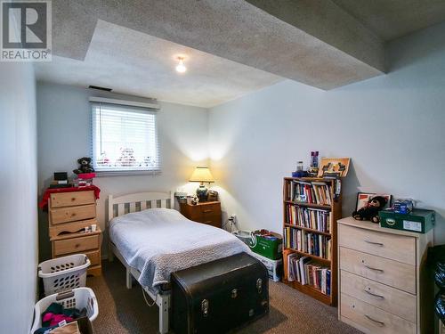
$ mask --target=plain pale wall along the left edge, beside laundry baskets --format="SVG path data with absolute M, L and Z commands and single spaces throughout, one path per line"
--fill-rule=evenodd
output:
M 36 86 L 25 63 L 0 62 L 0 332 L 28 333 L 36 303 Z

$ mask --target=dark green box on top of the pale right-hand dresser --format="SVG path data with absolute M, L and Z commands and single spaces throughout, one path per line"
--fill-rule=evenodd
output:
M 415 208 L 409 214 L 396 214 L 392 210 L 382 210 L 378 216 L 382 227 L 418 233 L 430 231 L 435 221 L 435 212 L 422 208 Z

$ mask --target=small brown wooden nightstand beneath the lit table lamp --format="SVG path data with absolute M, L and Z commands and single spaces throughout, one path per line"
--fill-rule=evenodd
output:
M 181 203 L 181 213 L 195 222 L 221 227 L 221 202 Z

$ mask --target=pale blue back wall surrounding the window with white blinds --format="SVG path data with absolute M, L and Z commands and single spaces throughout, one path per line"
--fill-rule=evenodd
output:
M 38 191 L 53 180 L 55 171 L 71 171 L 77 159 L 90 155 L 90 96 L 108 96 L 123 100 L 144 101 L 142 98 L 104 94 L 97 90 L 75 86 L 37 83 L 38 113 Z M 146 100 L 146 99 L 145 99 Z M 202 108 L 159 102 L 159 143 L 162 154 L 160 175 L 100 176 L 94 183 L 101 188 L 98 219 L 105 230 L 108 195 L 141 191 L 175 191 L 195 187 L 187 183 L 193 168 L 207 164 L 207 111 Z M 191 188 L 191 189 L 190 189 Z M 47 237 L 47 215 L 40 212 L 41 258 L 50 257 Z M 107 239 L 102 243 L 102 256 L 107 254 Z

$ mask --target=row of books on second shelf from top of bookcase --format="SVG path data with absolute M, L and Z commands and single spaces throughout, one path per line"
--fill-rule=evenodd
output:
M 287 205 L 287 224 L 306 227 L 320 232 L 331 231 L 331 213 L 320 208 L 306 208 Z

